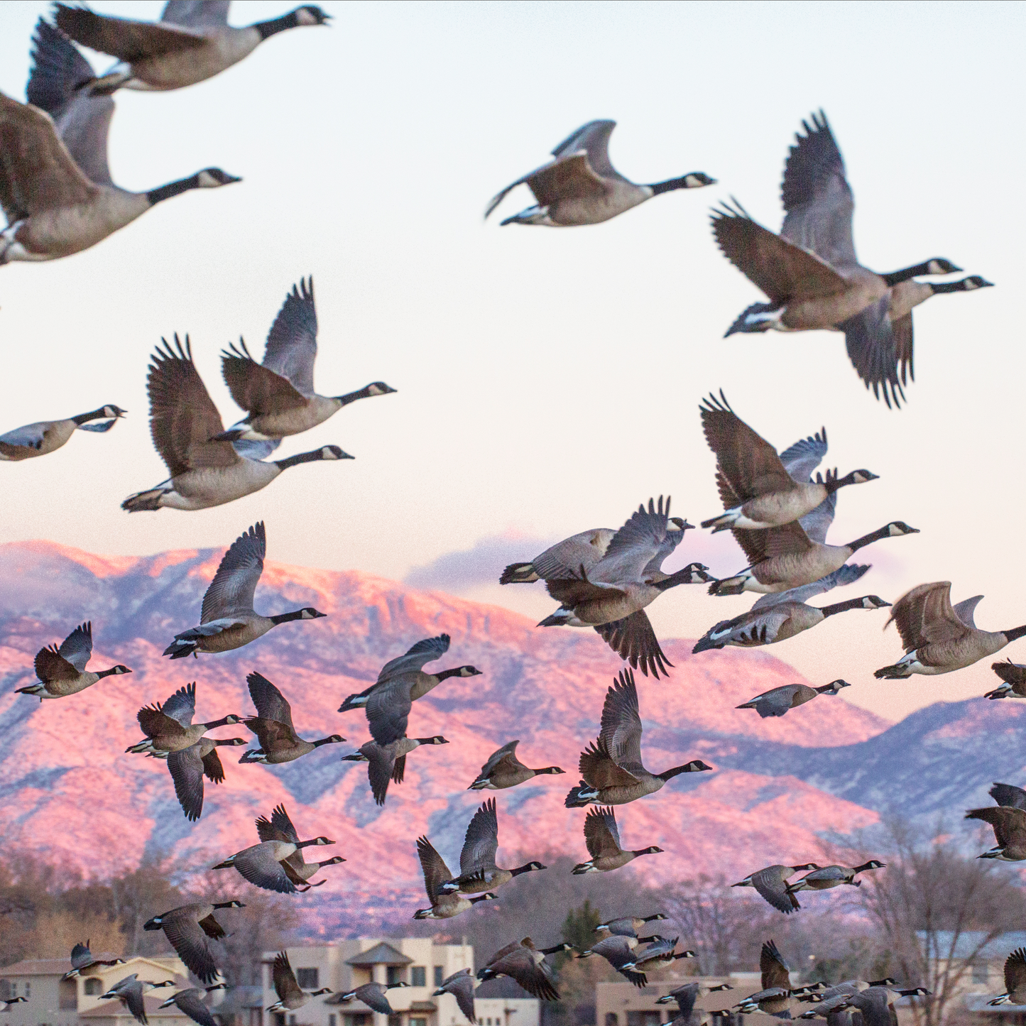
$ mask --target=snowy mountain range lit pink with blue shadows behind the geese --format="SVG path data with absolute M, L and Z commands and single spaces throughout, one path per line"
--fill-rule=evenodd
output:
M 564 808 L 563 797 L 621 668 L 597 635 L 540 630 L 506 609 L 358 571 L 268 562 L 259 609 L 313 605 L 327 617 L 283 624 L 235 653 L 163 659 L 171 637 L 198 622 L 221 555 L 111 558 L 48 542 L 0 546 L 0 801 L 7 814 L 0 839 L 7 849 L 44 853 L 86 874 L 158 853 L 201 868 L 254 843 L 253 819 L 284 802 L 301 835 L 338 841 L 318 850 L 322 857 L 348 860 L 301 899 L 314 929 L 343 929 L 347 910 L 405 917 L 424 902 L 415 838 L 426 833 L 450 867 L 458 865 L 466 825 L 488 797 L 466 788 L 491 751 L 518 738 L 527 764 L 555 763 L 566 773 L 496 795 L 500 864 L 553 853 L 586 857 L 584 813 Z M 133 672 L 56 701 L 13 694 L 35 679 L 35 653 L 84 620 L 93 629 L 90 668 L 124 663 Z M 392 785 L 380 808 L 365 764 L 340 758 L 368 739 L 363 714 L 336 710 L 372 683 L 385 661 L 441 632 L 451 647 L 432 668 L 469 663 L 482 675 L 445 680 L 413 706 L 410 735 L 442 734 L 449 744 L 413 752 L 404 783 Z M 658 882 L 804 862 L 821 854 L 822 837 L 871 827 L 890 810 L 960 812 L 968 801 L 987 800 L 992 780 L 1022 782 L 1023 758 L 1014 753 L 1024 750 L 1026 717 L 1012 701 L 933 706 L 891 726 L 823 697 L 763 720 L 734 707 L 800 677 L 768 650 L 692 656 L 692 643 L 665 643 L 676 664 L 669 679 L 637 676 L 642 753 L 656 772 L 692 758 L 715 772 L 678 777 L 618 808 L 626 846 L 665 849 L 622 873 Z M 197 721 L 245 715 L 252 711 L 245 676 L 254 669 L 290 700 L 302 737 L 340 733 L 348 741 L 278 767 L 238 765 L 242 749 L 223 749 L 226 782 L 207 784 L 203 817 L 190 824 L 166 766 L 125 754 L 141 737 L 135 713 L 195 680 Z M 249 737 L 241 725 L 215 736 Z M 384 893 L 383 871 L 390 881 Z

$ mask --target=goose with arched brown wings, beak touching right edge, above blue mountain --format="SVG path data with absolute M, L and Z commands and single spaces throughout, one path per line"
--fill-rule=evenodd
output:
M 884 629 L 892 622 L 898 625 L 905 655 L 873 676 L 877 680 L 897 680 L 913 673 L 951 673 L 993 656 L 1026 634 L 1026 625 L 1007 631 L 980 630 L 973 613 L 982 598 L 974 595 L 953 606 L 950 581 L 919 584 L 905 592 L 883 625 Z

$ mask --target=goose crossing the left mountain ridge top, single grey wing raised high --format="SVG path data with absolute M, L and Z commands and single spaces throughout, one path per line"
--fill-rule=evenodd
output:
M 199 652 L 231 652 L 263 637 L 278 624 L 326 617 L 326 613 L 309 605 L 273 617 L 262 617 L 253 609 L 253 595 L 264 573 L 266 555 L 267 531 L 261 520 L 239 535 L 222 556 L 218 573 L 203 595 L 199 626 L 175 634 L 164 655 L 184 659 Z

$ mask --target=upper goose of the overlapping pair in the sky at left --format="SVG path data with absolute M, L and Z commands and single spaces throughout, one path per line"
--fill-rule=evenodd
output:
M 317 310 L 314 280 L 300 279 L 292 286 L 267 337 L 264 362 L 258 363 L 240 339 L 222 351 L 221 370 L 236 404 L 248 417 L 218 435 L 219 440 L 256 442 L 245 456 L 263 459 L 278 446 L 280 439 L 298 435 L 323 424 L 357 399 L 395 392 L 384 382 L 371 382 L 358 392 L 324 396 L 314 391 L 314 360 L 317 357 Z M 270 443 L 270 444 L 264 444 Z

